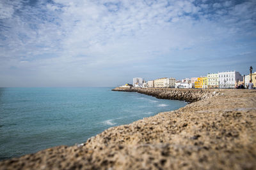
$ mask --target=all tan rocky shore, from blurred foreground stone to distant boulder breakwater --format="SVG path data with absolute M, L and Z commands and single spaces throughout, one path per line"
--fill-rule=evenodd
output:
M 256 169 L 256 90 L 131 90 L 191 104 L 0 169 Z

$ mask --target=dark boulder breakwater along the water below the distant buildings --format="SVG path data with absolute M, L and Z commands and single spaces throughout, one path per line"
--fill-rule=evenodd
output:
M 138 92 L 148 96 L 154 96 L 158 99 L 170 99 L 187 101 L 189 103 L 208 99 L 212 96 L 221 94 L 219 89 L 157 89 L 157 88 L 120 88 L 116 87 L 113 91 Z

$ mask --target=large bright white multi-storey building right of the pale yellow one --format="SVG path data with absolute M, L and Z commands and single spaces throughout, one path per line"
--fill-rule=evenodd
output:
M 238 71 L 218 73 L 220 88 L 235 88 L 236 81 L 243 81 L 243 76 Z

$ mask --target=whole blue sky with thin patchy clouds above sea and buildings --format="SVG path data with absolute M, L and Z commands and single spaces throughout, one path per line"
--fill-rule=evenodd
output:
M 0 0 L 0 87 L 256 71 L 256 1 Z

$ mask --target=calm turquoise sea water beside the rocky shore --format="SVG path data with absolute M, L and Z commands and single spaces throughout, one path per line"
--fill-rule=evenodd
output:
M 0 160 L 83 143 L 109 127 L 186 105 L 111 89 L 0 88 Z

